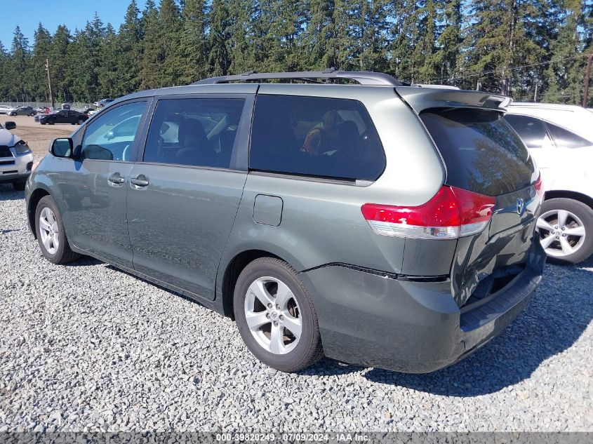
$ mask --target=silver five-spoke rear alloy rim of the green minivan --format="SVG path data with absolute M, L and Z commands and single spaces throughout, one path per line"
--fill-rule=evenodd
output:
M 245 318 L 260 347 L 272 354 L 287 354 L 302 332 L 300 308 L 288 285 L 278 278 L 258 278 L 247 290 Z

